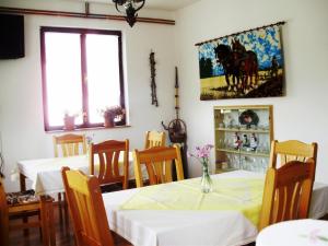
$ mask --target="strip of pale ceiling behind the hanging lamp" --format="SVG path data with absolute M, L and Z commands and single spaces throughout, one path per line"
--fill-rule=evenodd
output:
M 83 1 L 83 2 L 99 2 L 113 4 L 113 0 L 71 0 L 71 1 Z M 157 10 L 178 10 L 185 8 L 199 0 L 145 0 L 144 8 L 157 9 Z

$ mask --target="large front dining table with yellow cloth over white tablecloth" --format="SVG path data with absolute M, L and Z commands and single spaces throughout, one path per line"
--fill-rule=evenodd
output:
M 263 174 L 211 175 L 212 191 L 190 178 L 103 194 L 110 230 L 134 246 L 237 246 L 255 242 Z M 309 216 L 328 213 L 328 185 L 315 184 Z

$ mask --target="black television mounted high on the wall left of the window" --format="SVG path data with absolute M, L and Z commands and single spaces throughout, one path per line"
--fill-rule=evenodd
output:
M 0 14 L 0 59 L 25 56 L 24 16 Z

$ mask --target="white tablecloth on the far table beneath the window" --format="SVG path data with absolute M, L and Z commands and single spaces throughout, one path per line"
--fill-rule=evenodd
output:
M 89 174 L 89 156 L 75 155 L 70 157 L 38 159 L 17 162 L 17 172 L 32 180 L 36 195 L 62 192 L 61 167 L 80 169 Z M 129 153 L 129 177 L 134 178 L 132 153 Z

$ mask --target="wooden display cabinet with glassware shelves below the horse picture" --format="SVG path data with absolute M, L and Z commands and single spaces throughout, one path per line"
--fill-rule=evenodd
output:
M 214 106 L 216 173 L 265 173 L 273 139 L 272 105 Z

